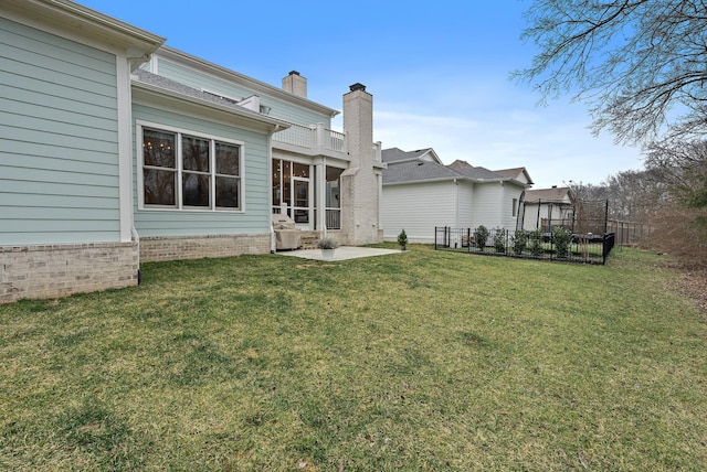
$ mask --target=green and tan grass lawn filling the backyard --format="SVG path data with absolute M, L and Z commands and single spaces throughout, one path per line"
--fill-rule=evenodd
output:
M 0 470 L 703 471 L 707 318 L 672 277 L 413 245 L 0 305 Z

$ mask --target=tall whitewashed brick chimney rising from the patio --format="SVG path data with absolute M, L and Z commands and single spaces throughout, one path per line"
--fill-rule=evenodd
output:
M 342 226 L 349 244 L 382 242 L 379 232 L 381 171 L 373 168 L 373 96 L 362 84 L 344 95 L 344 132 L 349 167 L 341 174 Z

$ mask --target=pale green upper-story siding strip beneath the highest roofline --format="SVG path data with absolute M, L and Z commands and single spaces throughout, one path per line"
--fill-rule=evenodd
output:
M 228 81 L 199 73 L 171 61 L 163 58 L 158 60 L 157 69 L 159 75 L 179 82 L 180 84 L 184 84 L 197 89 L 203 88 L 236 100 L 257 95 L 260 97 L 261 105 L 271 107 L 270 116 L 273 118 L 283 119 L 303 126 L 310 126 L 320 122 L 324 124 L 326 128 L 331 127 L 331 119 L 327 115 L 318 114 L 295 104 L 270 97 L 261 92 L 250 90 Z

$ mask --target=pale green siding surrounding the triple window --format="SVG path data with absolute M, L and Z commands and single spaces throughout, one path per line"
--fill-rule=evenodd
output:
M 138 207 L 137 172 L 141 172 L 137 152 L 134 154 L 133 175 L 135 227 L 140 237 L 156 236 L 207 236 L 207 235 L 247 235 L 263 234 L 270 230 L 270 195 L 267 136 L 258 132 L 231 127 L 220 122 L 205 121 L 171 111 L 148 107 L 133 106 L 133 118 L 137 122 L 149 122 L 151 128 L 176 128 L 184 132 L 208 135 L 221 139 L 243 142 L 243 169 L 241 175 L 244 185 L 243 211 L 210 210 L 156 210 Z M 136 150 L 141 150 L 137 133 L 134 136 Z

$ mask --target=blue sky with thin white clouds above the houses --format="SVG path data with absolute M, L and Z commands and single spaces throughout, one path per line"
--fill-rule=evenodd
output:
M 341 109 L 348 86 L 373 95 L 373 139 L 434 148 L 492 170 L 525 167 L 535 189 L 600 183 L 642 167 L 639 149 L 593 137 L 571 97 L 538 106 L 511 71 L 530 64 L 519 36 L 529 1 L 80 0 L 167 37 L 167 45 L 279 87 L 289 71 L 308 98 Z M 340 118 L 334 128 L 340 129 Z

